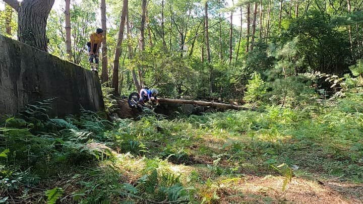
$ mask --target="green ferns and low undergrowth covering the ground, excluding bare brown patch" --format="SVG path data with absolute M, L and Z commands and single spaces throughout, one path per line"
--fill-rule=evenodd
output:
M 173 120 L 49 118 L 50 105 L 2 123 L 3 201 L 212 203 L 248 175 L 282 176 L 283 190 L 293 177 L 363 183 L 361 93 Z

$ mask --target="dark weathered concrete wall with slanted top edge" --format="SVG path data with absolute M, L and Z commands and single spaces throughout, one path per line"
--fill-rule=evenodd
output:
M 96 74 L 0 35 L 0 116 L 52 97 L 52 116 L 104 109 Z

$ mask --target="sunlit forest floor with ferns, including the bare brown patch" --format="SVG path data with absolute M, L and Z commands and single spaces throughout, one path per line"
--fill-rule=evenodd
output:
M 2 196 L 44 202 L 46 189 L 58 189 L 59 203 L 363 203 L 362 102 L 358 94 L 301 109 L 148 114 L 107 128 L 94 114 L 54 119 L 63 149 L 44 148 L 47 159 Z

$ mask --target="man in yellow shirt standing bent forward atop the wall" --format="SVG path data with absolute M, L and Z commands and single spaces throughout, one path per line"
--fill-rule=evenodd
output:
M 90 35 L 90 40 L 87 42 L 88 46 L 88 55 L 89 55 L 89 62 L 91 65 L 91 70 L 98 72 L 98 55 L 99 55 L 99 48 L 101 46 L 101 42 L 103 40 L 103 30 L 100 28 L 96 29 L 95 33 Z M 95 66 L 93 66 L 93 58 L 95 59 Z

